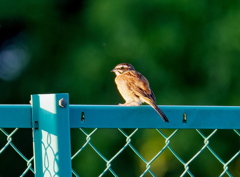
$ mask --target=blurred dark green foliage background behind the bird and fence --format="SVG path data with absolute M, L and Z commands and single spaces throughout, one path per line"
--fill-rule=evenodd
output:
M 127 62 L 148 78 L 158 104 L 239 105 L 239 22 L 240 1 L 237 0 L 1 0 L 0 103 L 28 104 L 31 94 L 69 93 L 71 104 L 118 104 L 123 99 L 110 70 L 118 63 Z M 81 144 L 78 137 L 81 135 L 75 131 L 73 139 L 79 143 L 74 143 L 73 149 Z M 181 131 L 176 140 L 184 145 L 176 148 L 187 148 L 183 152 L 186 161 L 188 153 L 194 154 L 203 145 L 202 139 L 196 140 L 189 131 Z M 151 150 L 145 148 L 154 146 L 159 135 L 140 132 L 136 145 L 147 154 Z M 170 132 L 166 130 L 167 134 Z M 239 137 L 233 132 L 227 136 L 228 132 L 218 131 L 215 136 L 219 144 L 216 151 L 226 161 L 228 152 L 237 152 L 240 147 Z M 125 142 L 119 132 L 113 130 L 110 134 L 113 135 L 108 137 L 111 143 L 104 142 L 105 153 L 111 152 L 112 144 L 119 149 Z M 32 148 L 31 133 L 23 131 L 19 138 L 21 135 L 30 141 L 24 145 L 19 142 L 20 148 L 30 149 L 26 150 L 28 153 Z M 96 144 L 102 145 L 100 137 L 109 133 L 99 130 L 98 135 Z M 225 143 L 227 140 L 232 141 Z M 193 148 L 193 141 L 200 146 Z M 158 143 L 161 147 L 164 140 Z M 91 157 L 90 152 L 86 159 Z M 134 158 L 126 162 L 126 157 L 133 156 L 130 154 L 126 152 L 119 157 L 125 164 L 115 167 L 119 176 L 141 174 L 141 165 Z M 157 164 L 153 167 L 157 176 L 179 176 L 183 171 L 181 165 L 171 163 L 173 158 L 168 158 L 169 154 L 159 160 L 164 170 L 159 170 Z M 103 171 L 106 164 L 101 166 L 94 161 L 90 163 L 92 166 L 84 166 L 82 176 L 97 176 L 99 168 Z M 11 169 L 9 164 L 1 162 L 0 168 Z M 212 176 L 214 164 L 200 163 L 191 168 L 196 176 Z M 78 165 L 83 166 L 80 160 L 74 162 L 75 169 Z M 199 165 L 206 166 L 204 171 L 199 170 Z M 239 157 L 231 165 L 231 173 L 240 176 Z M 144 165 L 141 167 L 144 171 Z M 219 163 L 217 167 L 222 169 Z M 16 171 L 8 171 L 8 175 L 19 176 Z

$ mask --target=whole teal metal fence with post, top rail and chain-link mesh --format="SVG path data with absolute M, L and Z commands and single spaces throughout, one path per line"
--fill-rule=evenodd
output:
M 120 156 L 124 156 L 128 151 L 137 159 L 125 159 L 125 162 L 136 162 L 132 167 L 139 169 L 134 173 L 135 176 L 171 176 L 167 172 L 170 167 L 166 167 L 164 163 L 173 159 L 166 160 L 169 154 L 177 160 L 178 166 L 180 164 L 182 167 L 177 176 L 200 176 L 200 173 L 196 174 L 192 170 L 192 164 L 195 164 L 201 154 L 207 152 L 206 164 L 207 161 L 220 164 L 219 169 L 214 169 L 217 171 L 216 176 L 240 175 L 240 107 L 161 106 L 161 109 L 170 123 L 163 122 L 150 106 L 70 105 L 68 94 L 32 95 L 31 105 L 0 105 L 0 163 L 6 163 L 6 158 L 1 157 L 6 157 L 8 151 L 12 149 L 11 153 L 16 152 L 25 164 L 18 176 L 87 176 L 85 171 L 95 169 L 93 166 L 98 161 L 103 165 L 100 165 L 96 176 L 123 176 L 122 174 L 128 174 L 128 171 L 131 173 L 128 176 L 133 176 L 131 170 L 126 169 L 121 173 L 116 167 Z M 30 153 L 26 156 L 16 145 L 18 143 L 14 142 L 18 139 L 15 136 L 21 129 L 32 130 L 32 155 Z M 109 133 L 109 130 L 113 130 L 114 133 Z M 108 133 L 99 134 L 102 131 Z M 158 138 L 151 140 L 151 143 L 145 143 L 141 135 L 146 134 L 142 134 L 142 131 L 150 131 L 149 136 L 154 134 L 154 137 Z M 194 135 L 192 139 L 186 141 L 191 141 L 192 146 L 188 148 L 194 148 L 195 151 L 190 153 L 186 150 L 186 157 L 180 155 L 175 148 L 187 144 L 182 141 L 184 138 L 176 141 L 178 135 L 186 136 L 182 131 Z M 212 144 L 213 138 L 221 131 L 224 131 L 222 132 L 224 135 L 231 132 L 228 140 L 234 144 L 231 152 L 225 152 L 228 154 L 227 158 L 226 156 L 223 158 Z M 98 136 L 95 136 L 96 134 Z M 109 145 L 101 145 L 99 137 L 102 142 Z M 108 138 L 109 141 L 106 142 Z M 103 147 L 114 146 L 118 139 L 124 139 L 124 143 L 115 147 L 111 155 L 102 150 Z M 201 144 L 196 143 L 195 139 Z M 228 145 L 229 142 L 220 144 Z M 138 147 L 139 144 L 150 145 L 147 153 L 151 156 L 146 156 L 147 153 Z M 95 154 L 96 159 L 92 159 L 92 155 L 91 157 L 82 155 L 87 151 Z M 208 160 L 210 156 L 214 160 Z M 204 164 L 197 168 L 204 171 L 206 169 Z M 141 167 L 136 168 L 138 165 Z M 12 164 L 6 171 L 14 170 L 14 166 L 16 165 Z M 2 170 L 4 169 L 0 170 L 1 177 L 4 176 Z

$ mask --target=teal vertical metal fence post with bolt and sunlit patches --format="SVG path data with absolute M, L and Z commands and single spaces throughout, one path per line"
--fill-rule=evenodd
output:
M 35 177 L 70 177 L 68 94 L 31 95 Z

